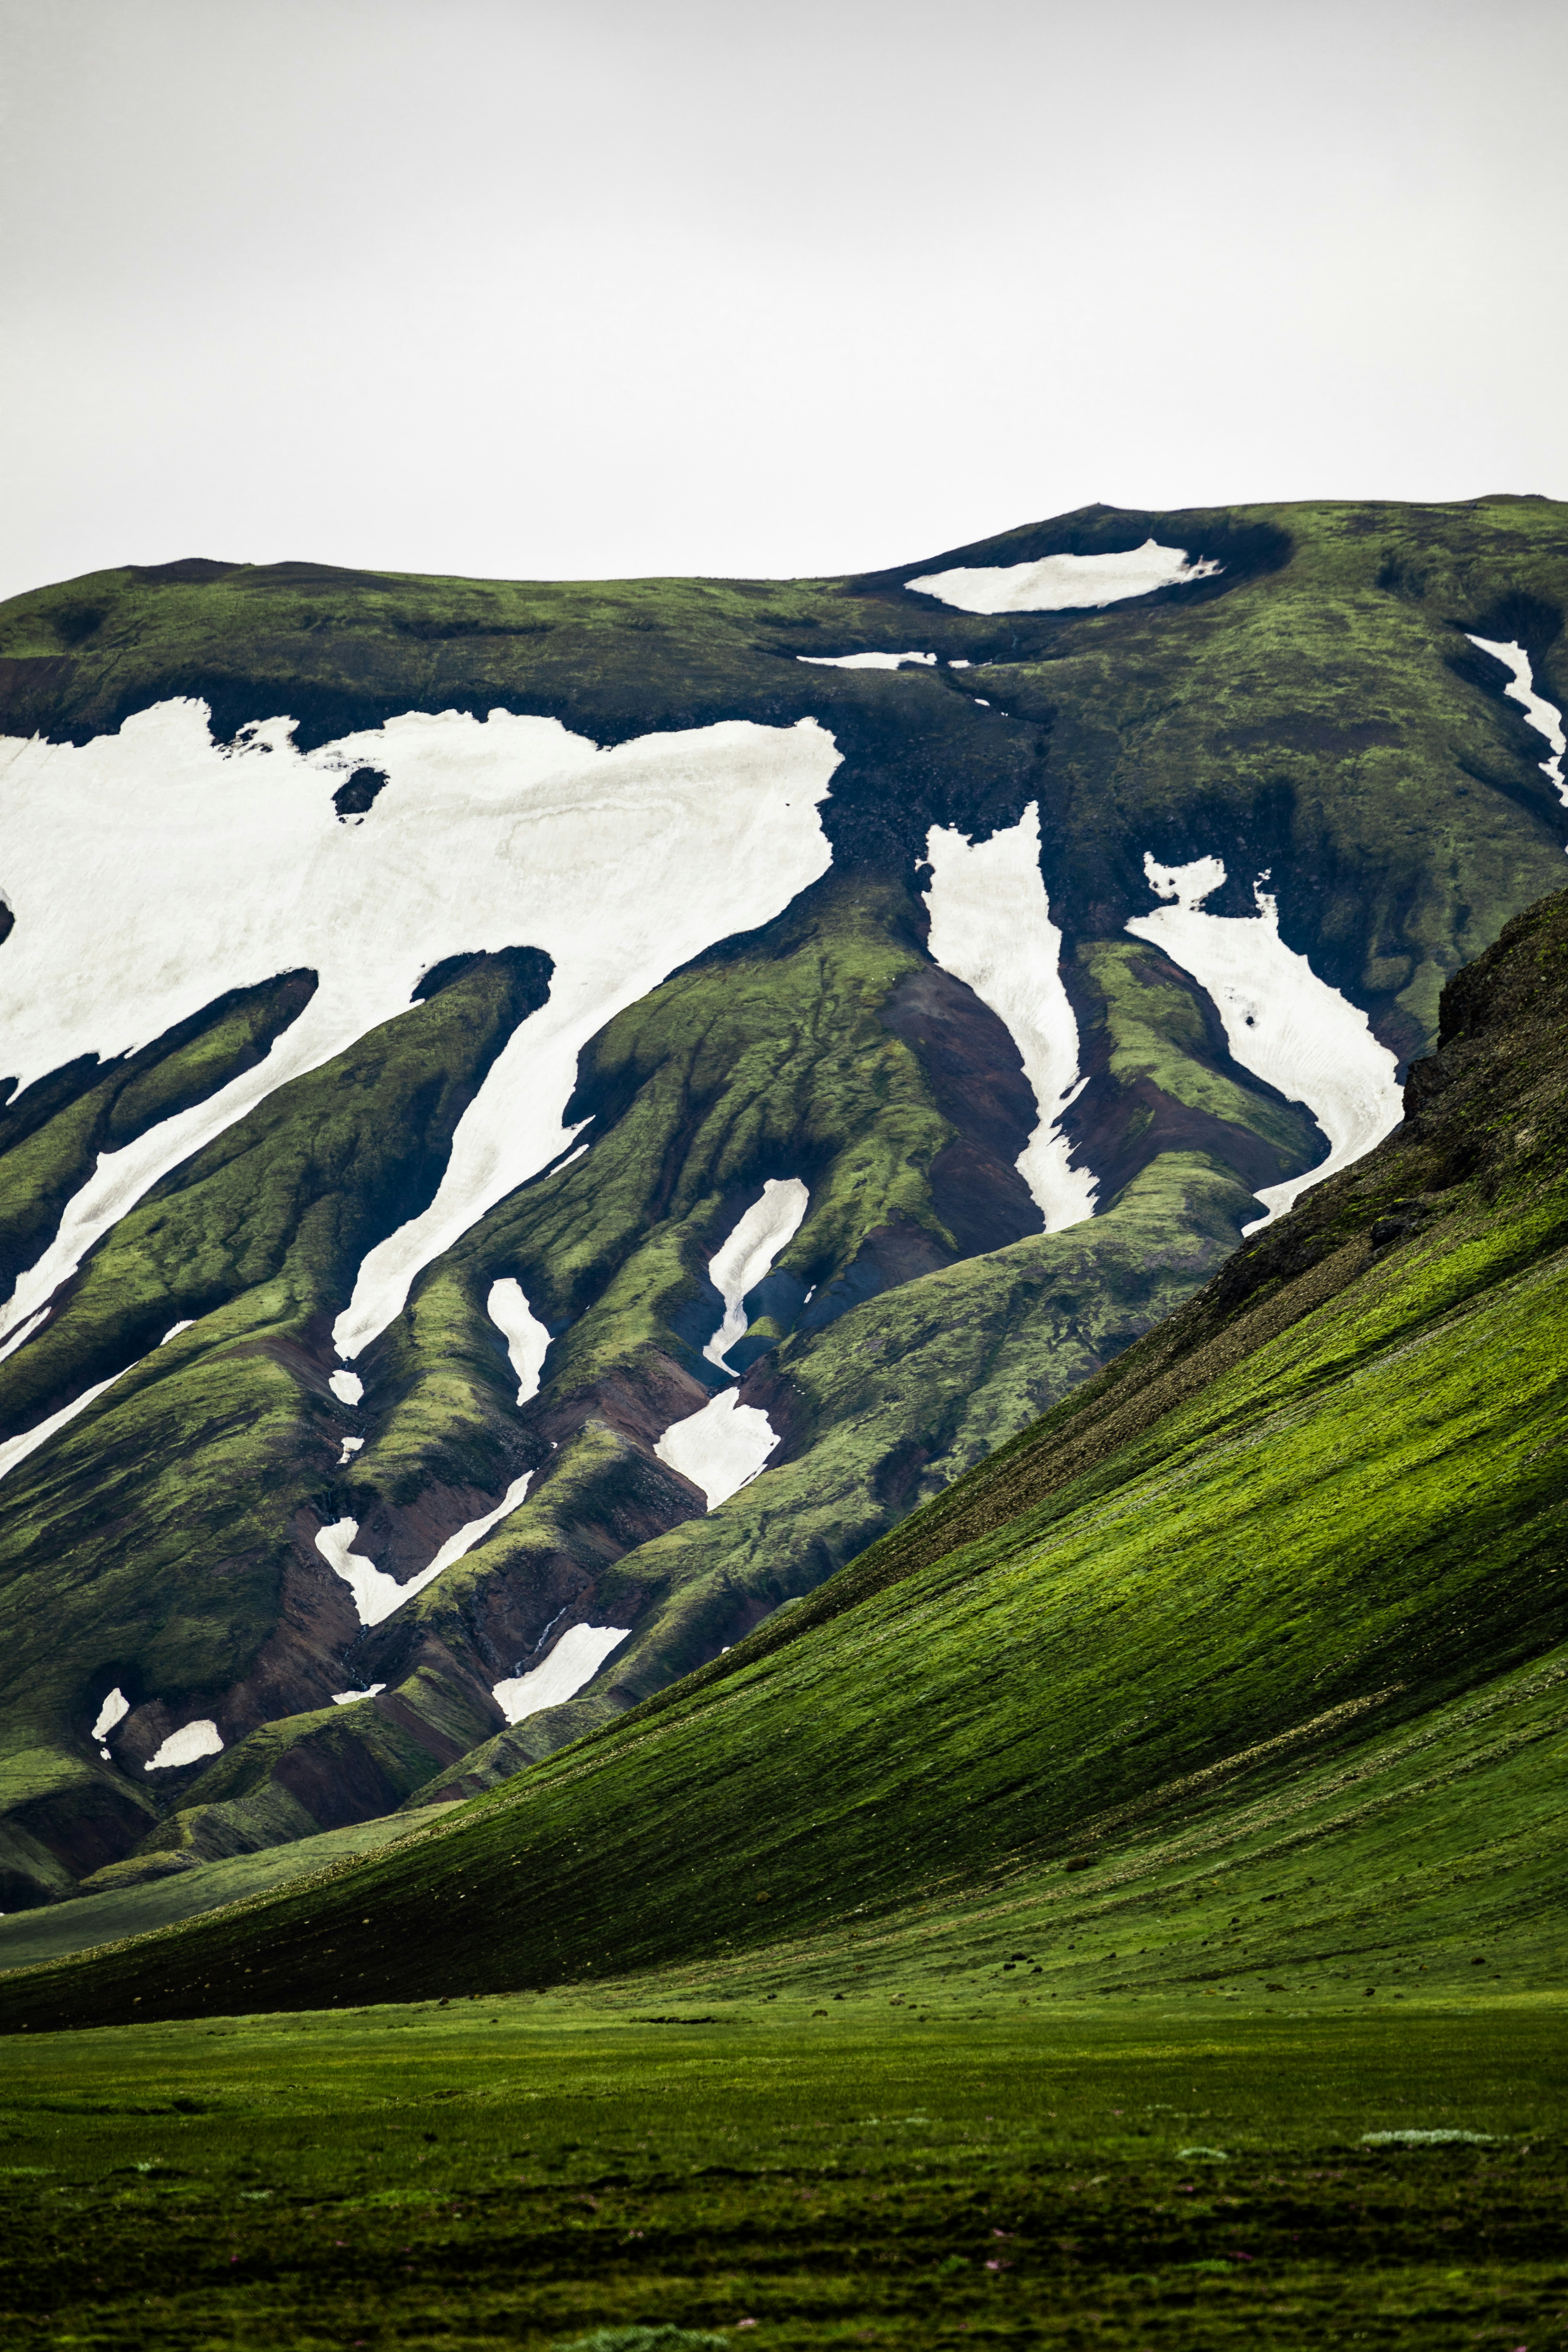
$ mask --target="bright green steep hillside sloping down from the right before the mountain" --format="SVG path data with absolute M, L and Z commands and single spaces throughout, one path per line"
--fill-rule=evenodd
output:
M 0 2020 L 1561 1971 L 1568 891 L 1448 985 L 1408 1112 L 679 1686 Z

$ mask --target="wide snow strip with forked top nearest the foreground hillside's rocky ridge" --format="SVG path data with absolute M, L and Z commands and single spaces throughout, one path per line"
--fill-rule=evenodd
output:
M 1267 1216 L 1244 1228 L 1258 1232 L 1309 1185 L 1349 1167 L 1399 1127 L 1399 1063 L 1378 1044 L 1361 1007 L 1321 981 L 1305 955 L 1286 948 L 1279 901 L 1262 889 L 1267 875 L 1253 887 L 1255 915 L 1206 915 L 1204 898 L 1225 882 L 1220 858 L 1157 866 L 1145 851 L 1143 870 L 1154 896 L 1175 903 L 1133 915 L 1126 929 L 1164 948 L 1208 990 L 1241 1068 L 1288 1101 L 1305 1103 L 1328 1138 L 1328 1157 L 1305 1176 L 1260 1188 Z

